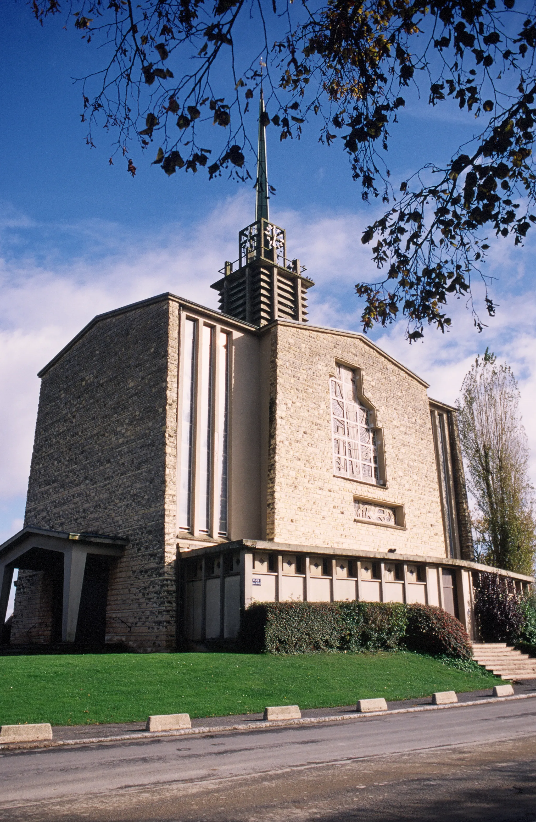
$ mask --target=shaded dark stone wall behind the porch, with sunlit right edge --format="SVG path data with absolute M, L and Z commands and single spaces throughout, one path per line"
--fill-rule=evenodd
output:
M 25 512 L 28 525 L 131 539 L 110 571 L 106 639 L 146 650 L 175 639 L 177 320 L 165 295 L 114 312 L 44 373 Z M 15 624 L 37 621 L 33 591 L 17 589 Z

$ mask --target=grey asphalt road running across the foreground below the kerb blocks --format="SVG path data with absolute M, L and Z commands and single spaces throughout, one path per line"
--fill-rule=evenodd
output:
M 536 699 L 0 754 L 0 820 L 536 822 Z

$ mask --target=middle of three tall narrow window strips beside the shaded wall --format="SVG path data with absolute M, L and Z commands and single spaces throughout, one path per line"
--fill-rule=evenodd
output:
M 212 340 L 214 329 L 203 326 L 201 353 L 201 454 L 199 459 L 199 530 L 210 531 L 210 468 L 212 463 Z

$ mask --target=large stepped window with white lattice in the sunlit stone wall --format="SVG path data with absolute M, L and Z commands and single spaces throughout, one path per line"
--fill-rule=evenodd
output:
M 355 372 L 337 366 L 330 379 L 334 471 L 342 477 L 380 482 L 372 413 L 358 400 Z

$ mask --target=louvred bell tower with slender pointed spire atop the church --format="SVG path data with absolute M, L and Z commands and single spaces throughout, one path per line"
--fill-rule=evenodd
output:
M 219 310 L 253 326 L 272 320 L 307 322 L 307 289 L 314 283 L 303 276 L 299 260 L 287 259 L 284 229 L 270 223 L 266 126 L 261 89 L 256 159 L 256 219 L 238 233 L 238 260 L 226 261 L 223 275 L 210 286 L 219 293 Z

